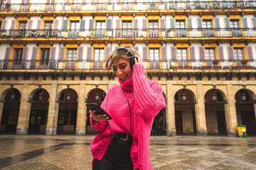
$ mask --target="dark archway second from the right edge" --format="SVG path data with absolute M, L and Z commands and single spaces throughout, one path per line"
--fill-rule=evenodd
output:
M 204 96 L 208 134 L 227 135 L 225 106 L 222 91 L 210 89 Z

